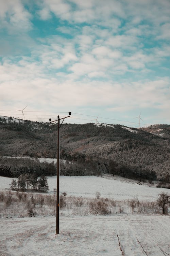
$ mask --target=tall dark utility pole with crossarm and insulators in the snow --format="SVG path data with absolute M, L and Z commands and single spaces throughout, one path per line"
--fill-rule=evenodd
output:
M 49 118 L 50 123 L 58 121 L 58 134 L 57 134 L 57 191 L 56 191 L 56 234 L 59 234 L 59 214 L 60 214 L 60 127 L 63 124 L 63 121 L 65 118 L 70 117 L 71 112 L 68 113 L 69 116 L 60 118 L 60 116 L 57 116 L 57 120 L 51 121 L 51 118 Z M 60 125 L 60 120 L 62 120 L 62 123 Z

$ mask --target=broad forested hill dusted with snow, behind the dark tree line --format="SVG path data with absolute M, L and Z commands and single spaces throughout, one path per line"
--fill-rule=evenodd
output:
M 80 172 L 81 167 L 84 174 L 87 169 L 94 174 L 94 169 L 133 178 L 136 175 L 154 179 L 155 174 L 158 179 L 169 177 L 169 128 L 167 125 L 166 136 L 161 137 L 148 132 L 149 128 L 146 131 L 121 125 L 63 123 L 60 157 L 74 162 L 74 169 Z M 56 154 L 57 125 L 0 118 L 1 156 L 55 158 Z

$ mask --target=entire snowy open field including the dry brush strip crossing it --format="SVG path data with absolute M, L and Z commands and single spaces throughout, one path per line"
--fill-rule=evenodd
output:
M 10 181 L 0 177 L 1 256 L 121 256 L 120 246 L 125 256 L 146 255 L 137 239 L 148 256 L 163 255 L 158 246 L 170 254 L 170 216 L 156 205 L 168 189 L 111 176 L 61 176 L 60 191 L 67 195 L 55 235 L 56 177 L 48 177 L 49 193 L 13 191 L 8 204 Z M 29 210 L 36 216 L 29 217 Z

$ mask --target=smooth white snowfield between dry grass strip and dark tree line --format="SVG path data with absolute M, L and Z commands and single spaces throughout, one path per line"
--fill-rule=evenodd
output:
M 106 178 L 107 177 L 107 178 Z M 109 179 L 108 179 L 109 177 Z M 10 188 L 12 178 L 0 176 L 0 189 Z M 48 177 L 49 193 L 56 188 L 56 176 Z M 60 176 L 60 192 L 69 196 L 82 196 L 94 198 L 96 191 L 102 197 L 112 197 L 116 200 L 126 200 L 138 197 L 139 200 L 156 200 L 162 191 L 170 192 L 166 188 L 156 188 L 149 184 L 137 184 L 136 181 L 122 177 L 97 176 Z

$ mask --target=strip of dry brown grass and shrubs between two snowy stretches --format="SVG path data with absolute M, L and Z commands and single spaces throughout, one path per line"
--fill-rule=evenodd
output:
M 60 196 L 62 215 L 108 215 L 108 214 L 161 214 L 157 201 L 139 201 L 138 198 L 118 201 L 109 198 L 83 198 Z M 0 217 L 55 215 L 56 196 L 15 191 L 0 193 Z

